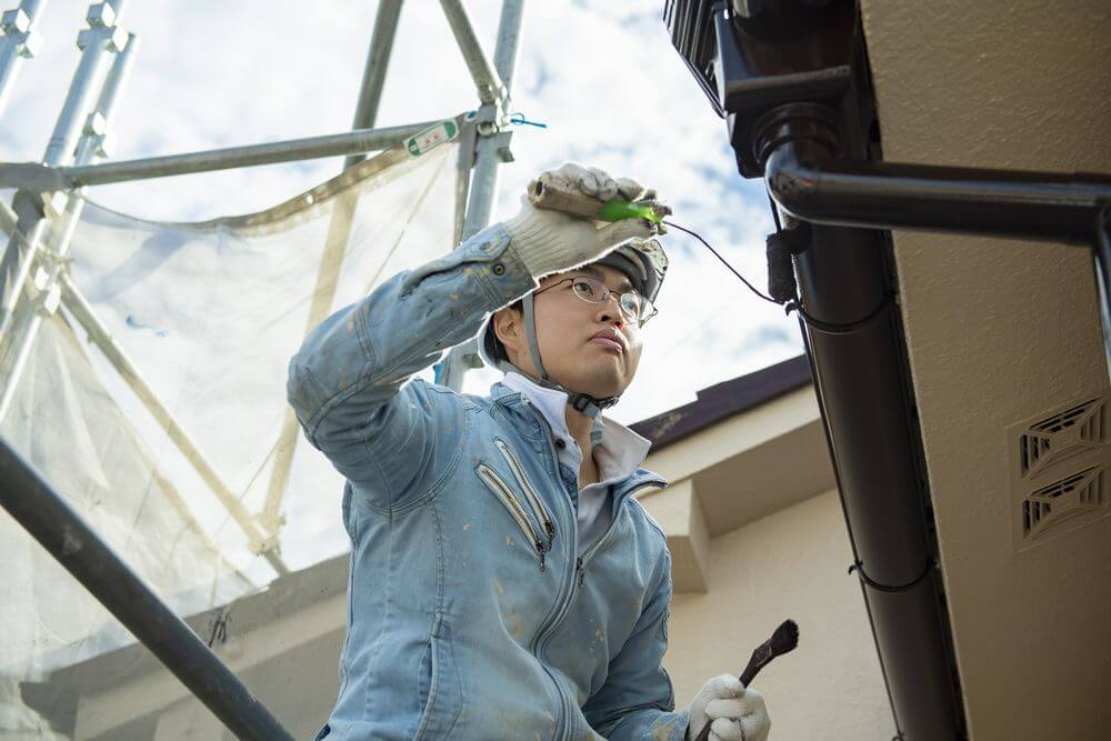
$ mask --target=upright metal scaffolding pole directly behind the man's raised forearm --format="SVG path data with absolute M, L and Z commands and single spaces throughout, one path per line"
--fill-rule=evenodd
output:
M 448 0 L 443 0 L 444 9 Z M 458 4 L 458 3 L 456 3 Z M 501 6 L 501 19 L 498 22 L 498 46 L 494 59 L 498 60 L 497 73 L 504 81 L 503 92 L 509 94 L 513 72 L 517 68 L 517 57 L 520 50 L 521 24 L 524 17 L 523 0 L 504 0 Z M 460 7 L 462 10 L 462 7 Z M 463 239 L 473 237 L 490 223 L 494 201 L 498 196 L 498 166 L 509 156 L 510 132 L 497 130 L 482 133 L 479 129 L 476 147 L 474 172 L 470 181 L 470 197 L 467 202 L 467 214 L 463 218 Z M 443 370 L 439 382 L 456 391 L 463 388 L 463 375 L 467 369 L 476 367 L 478 348 L 473 340 L 452 348 L 443 361 Z M 481 362 L 481 361 L 478 361 Z

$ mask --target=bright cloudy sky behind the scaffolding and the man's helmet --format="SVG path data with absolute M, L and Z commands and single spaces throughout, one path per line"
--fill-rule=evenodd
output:
M 470 0 L 492 53 L 500 2 Z M 323 0 L 129 2 L 123 24 L 142 47 L 113 126 L 114 159 L 331 133 L 350 127 L 377 3 Z M 578 160 L 655 187 L 674 220 L 710 240 L 758 286 L 770 214 L 762 186 L 737 174 L 717 118 L 660 20 L 662 1 L 531 2 L 513 86 L 519 127 L 502 168 L 496 218 L 510 216 L 537 172 Z M 50 0 L 46 44 L 24 64 L 0 120 L 0 159 L 41 156 L 77 64 L 86 2 Z M 453 116 L 477 106 L 440 6 L 402 11 L 378 124 Z M 97 188 L 92 198 L 151 219 L 259 210 L 333 176 L 339 160 Z M 801 352 L 798 328 L 748 293 L 683 234 L 649 324 L 641 372 L 615 408 L 631 422 L 694 391 Z M 482 391 L 491 372 L 472 373 Z

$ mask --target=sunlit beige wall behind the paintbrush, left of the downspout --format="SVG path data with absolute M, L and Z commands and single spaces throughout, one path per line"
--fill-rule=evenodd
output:
M 799 648 L 753 682 L 768 702 L 772 738 L 890 739 L 894 723 L 835 491 L 710 541 L 710 591 L 672 602 L 664 661 L 675 702 L 702 682 L 740 672 L 752 649 L 787 618 Z

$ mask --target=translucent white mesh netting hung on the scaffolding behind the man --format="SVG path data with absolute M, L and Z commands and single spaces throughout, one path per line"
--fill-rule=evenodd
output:
M 37 332 L 0 435 L 179 614 L 347 550 L 342 480 L 294 427 L 287 363 L 328 313 L 454 246 L 458 156 L 401 146 L 203 223 L 84 204 L 73 290 Z M 0 554 L 8 738 L 37 722 L 19 683 L 133 639 L 2 510 Z

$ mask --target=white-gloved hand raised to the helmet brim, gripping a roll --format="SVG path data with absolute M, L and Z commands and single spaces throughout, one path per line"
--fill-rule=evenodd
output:
M 620 197 L 629 201 L 655 200 L 655 191 L 635 180 L 613 178 L 604 170 L 568 162 L 549 177 L 563 186 L 600 201 Z M 562 211 L 538 209 L 528 197 L 521 210 L 503 223 L 510 244 L 533 278 L 593 262 L 630 239 L 647 239 L 658 232 L 645 219 L 622 219 L 613 223 L 574 217 Z

